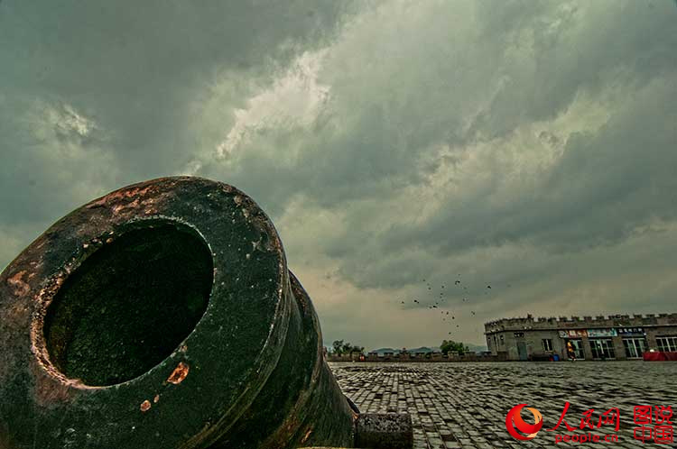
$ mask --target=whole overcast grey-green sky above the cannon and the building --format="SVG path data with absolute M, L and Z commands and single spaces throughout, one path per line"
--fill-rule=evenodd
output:
M 190 174 L 273 217 L 326 343 L 675 312 L 675 49 L 671 0 L 3 0 L 0 267 Z

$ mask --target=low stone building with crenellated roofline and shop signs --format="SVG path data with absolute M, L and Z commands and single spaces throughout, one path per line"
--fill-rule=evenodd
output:
M 641 359 L 649 350 L 677 352 L 677 314 L 503 318 L 485 324 L 487 348 L 505 360 Z

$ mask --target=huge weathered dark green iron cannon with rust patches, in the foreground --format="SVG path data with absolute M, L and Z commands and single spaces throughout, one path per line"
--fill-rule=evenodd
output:
M 0 275 L 3 449 L 412 444 L 341 393 L 273 223 L 227 184 L 118 189 Z

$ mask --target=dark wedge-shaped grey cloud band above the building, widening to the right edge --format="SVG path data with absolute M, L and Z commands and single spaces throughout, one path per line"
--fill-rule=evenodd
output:
M 500 183 L 466 207 L 450 198 L 425 224 L 394 229 L 385 248 L 417 241 L 447 254 L 525 241 L 579 251 L 617 243 L 656 219 L 672 221 L 677 105 L 664 101 L 670 97 L 677 97 L 673 79 L 640 88 L 596 133 L 571 134 L 558 163 L 537 180 L 538 188 L 505 197 L 499 206 L 487 199 Z

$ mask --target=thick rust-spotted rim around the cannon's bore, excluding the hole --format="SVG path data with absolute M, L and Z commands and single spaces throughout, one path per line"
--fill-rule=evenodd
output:
M 223 219 L 225 210 L 232 223 Z M 158 222 L 190 227 L 212 252 L 214 277 L 207 310 L 168 357 L 134 379 L 88 386 L 67 378 L 53 365 L 44 344 L 44 316 L 51 299 L 108 239 Z M 240 234 L 233 232 L 234 226 L 266 238 L 258 246 L 249 240 L 236 242 Z M 270 285 L 246 279 L 257 295 L 234 298 L 241 291 L 232 284 L 233 273 L 246 273 L 254 262 L 268 270 Z M 10 337 L 0 339 L 0 402 L 5 404 L 0 405 L 0 416 L 8 417 L 6 429 L 0 426 L 0 445 L 14 447 L 14 439 L 21 444 L 22 436 L 12 435 L 15 431 L 25 435 L 17 430 L 12 408 L 18 416 L 37 414 L 42 433 L 51 435 L 54 447 L 78 447 L 88 438 L 104 441 L 104 436 L 122 447 L 131 446 L 126 441 L 140 446 L 143 440 L 152 447 L 157 438 L 171 447 L 181 445 L 186 435 L 199 438 L 183 447 L 201 447 L 201 442 L 217 437 L 215 433 L 227 432 L 274 370 L 289 322 L 289 286 L 274 225 L 250 197 L 227 184 L 192 177 L 153 179 L 79 207 L 0 275 L 0 334 Z M 243 310 L 249 310 L 248 332 L 221 321 Z M 236 358 L 232 353 L 223 356 L 224 348 L 238 344 L 247 350 L 238 351 Z M 177 415 L 183 404 L 196 400 L 201 402 L 199 417 L 162 413 L 165 408 Z

